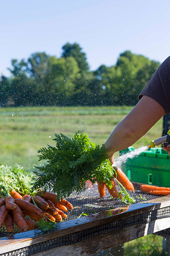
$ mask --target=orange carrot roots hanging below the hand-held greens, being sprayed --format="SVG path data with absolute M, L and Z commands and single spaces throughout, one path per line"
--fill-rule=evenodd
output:
M 99 194 L 100 194 L 100 198 L 102 198 L 105 195 L 105 188 L 107 188 L 108 192 L 113 197 L 122 198 L 121 194 L 117 191 L 115 180 L 117 180 L 118 183 L 122 187 L 127 189 L 128 191 L 135 192 L 134 186 L 133 186 L 132 182 L 128 179 L 126 174 L 118 167 L 114 167 L 114 169 L 115 169 L 116 172 L 114 174 L 114 178 L 111 180 L 112 188 L 110 188 L 109 185 L 105 184 L 104 182 L 102 182 L 102 183 L 98 182 L 98 191 L 99 191 Z

